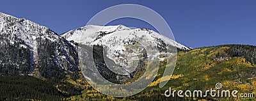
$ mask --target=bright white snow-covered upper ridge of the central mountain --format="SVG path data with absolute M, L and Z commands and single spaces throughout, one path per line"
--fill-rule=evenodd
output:
M 107 36 L 105 36 L 107 35 Z M 76 43 L 83 43 L 85 45 L 89 44 L 98 44 L 98 42 L 104 42 L 104 40 L 109 39 L 109 36 L 116 36 L 116 40 L 125 40 L 131 39 L 134 37 L 141 37 L 145 35 L 150 35 L 152 40 L 163 40 L 167 45 L 172 45 L 182 50 L 189 50 L 191 48 L 186 47 L 180 43 L 177 43 L 166 36 L 160 35 L 155 31 L 150 29 L 130 29 L 129 27 L 118 25 L 118 26 L 94 26 L 88 25 L 74 29 L 64 33 L 63 38 L 66 38 L 68 41 L 74 41 Z M 113 37 L 114 38 L 114 37 Z

